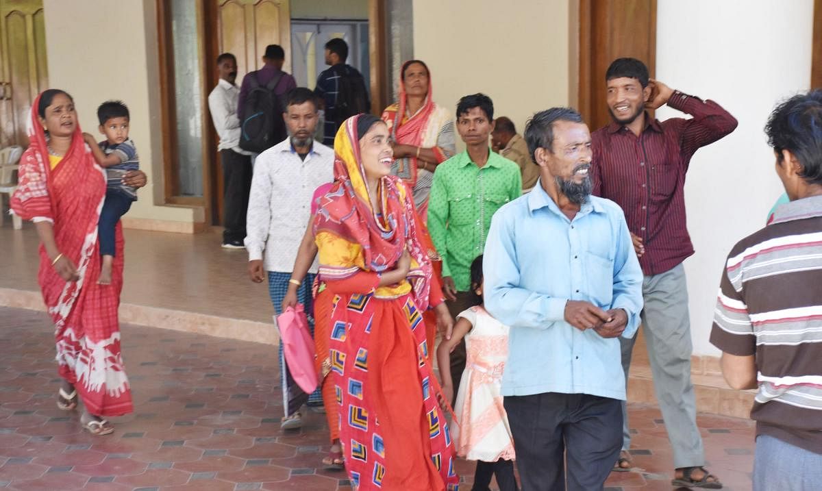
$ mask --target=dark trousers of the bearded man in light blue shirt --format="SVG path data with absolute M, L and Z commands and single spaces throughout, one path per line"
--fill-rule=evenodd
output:
M 545 392 L 504 405 L 523 491 L 602 491 L 622 445 L 620 401 Z

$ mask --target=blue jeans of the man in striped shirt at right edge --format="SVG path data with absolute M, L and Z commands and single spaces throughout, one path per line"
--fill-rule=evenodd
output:
M 754 491 L 811 491 L 822 483 L 822 454 L 768 435 L 756 437 Z

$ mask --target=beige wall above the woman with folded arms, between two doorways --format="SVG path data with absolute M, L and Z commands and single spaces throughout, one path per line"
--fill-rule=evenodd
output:
M 571 13 L 567 0 L 413 0 L 414 57 L 436 103 L 455 111 L 483 92 L 522 133 L 534 112 L 570 103 Z

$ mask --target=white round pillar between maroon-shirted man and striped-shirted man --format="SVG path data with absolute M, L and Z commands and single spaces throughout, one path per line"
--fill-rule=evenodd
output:
M 763 127 L 778 100 L 810 85 L 812 0 L 658 0 L 657 78 L 713 99 L 737 117 L 731 135 L 700 149 L 686 184 L 686 260 L 697 355 L 715 355 L 709 333 L 728 251 L 764 226 L 782 194 Z M 662 108 L 657 117 L 680 116 Z

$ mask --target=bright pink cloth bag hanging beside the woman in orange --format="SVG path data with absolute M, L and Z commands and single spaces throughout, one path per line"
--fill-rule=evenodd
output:
M 316 369 L 314 368 L 314 340 L 308 330 L 308 319 L 302 304 L 297 308 L 289 307 L 275 317 L 279 327 L 280 342 L 283 343 L 285 362 L 294 382 L 302 392 L 310 394 L 317 386 Z

